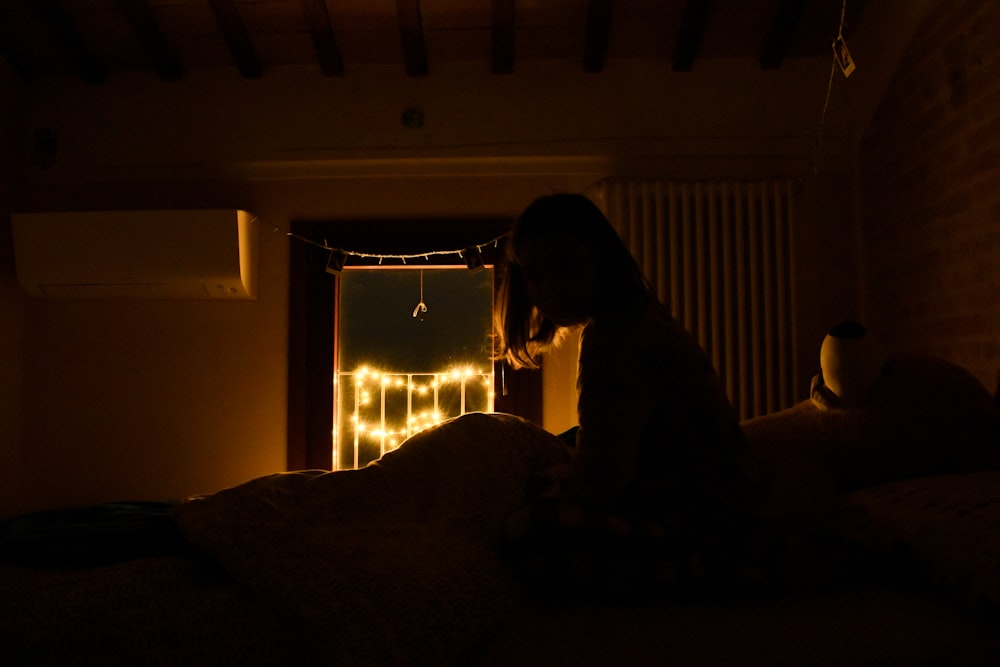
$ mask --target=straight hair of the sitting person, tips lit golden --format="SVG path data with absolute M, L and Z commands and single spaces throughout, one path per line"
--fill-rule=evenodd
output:
M 634 309 L 656 298 L 632 253 L 596 204 L 578 194 L 540 197 L 515 221 L 500 267 L 495 351 L 496 358 L 514 368 L 538 368 L 541 354 L 565 331 L 528 298 L 518 247 L 526 240 L 571 237 L 582 242 L 600 266 L 596 296 L 608 310 Z

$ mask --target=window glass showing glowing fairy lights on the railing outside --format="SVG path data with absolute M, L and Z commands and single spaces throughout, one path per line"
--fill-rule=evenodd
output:
M 493 410 L 493 271 L 347 268 L 340 278 L 334 469 Z

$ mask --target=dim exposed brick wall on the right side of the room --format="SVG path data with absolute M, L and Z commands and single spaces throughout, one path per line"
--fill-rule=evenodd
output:
M 861 147 L 864 303 L 890 350 L 1000 378 L 1000 2 L 931 3 Z

